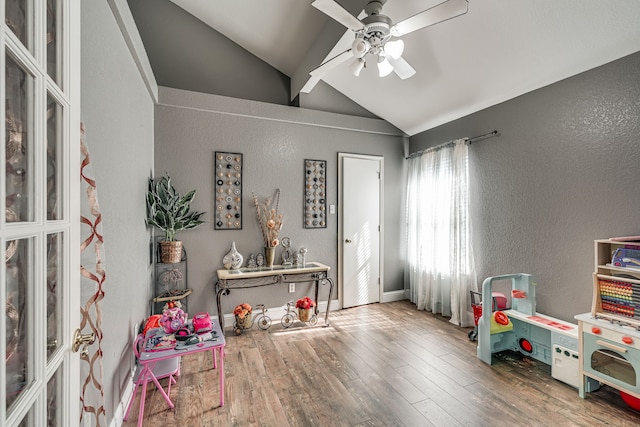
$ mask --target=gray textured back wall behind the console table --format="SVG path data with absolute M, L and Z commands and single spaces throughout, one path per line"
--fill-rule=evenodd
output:
M 176 106 L 177 105 L 177 106 Z M 194 290 L 189 311 L 216 309 L 213 284 L 222 257 L 235 241 L 244 256 L 262 250 L 251 193 L 267 196 L 282 191 L 285 213 L 281 236 L 289 236 L 294 248 L 306 247 L 307 259 L 320 261 L 337 275 L 337 215 L 330 215 L 326 229 L 302 228 L 304 159 L 327 161 L 327 203 L 337 205 L 338 152 L 379 155 L 385 168 L 384 260 L 385 291 L 403 289 L 400 239 L 404 187 L 404 137 L 348 130 L 362 125 L 374 132 L 397 130 L 369 118 L 321 113 L 294 107 L 224 98 L 160 88 L 156 107 L 155 171 L 169 173 L 178 190 L 197 189 L 194 209 L 206 211 L 207 224 L 179 234 L 188 254 L 188 284 Z M 244 154 L 243 229 L 214 230 L 213 156 L 215 151 Z M 279 252 L 278 252 L 279 253 Z M 237 302 L 279 307 L 303 296 L 308 288 L 289 294 L 285 286 L 235 292 L 224 300 L 230 313 Z M 335 294 L 334 294 L 335 295 Z M 324 298 L 326 300 L 326 293 Z M 335 306 L 334 306 L 335 308 Z M 215 312 L 215 311 L 214 311 Z

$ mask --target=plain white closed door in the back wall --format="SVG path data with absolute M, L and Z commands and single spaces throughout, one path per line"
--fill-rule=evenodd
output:
M 342 306 L 380 302 L 382 158 L 340 155 Z

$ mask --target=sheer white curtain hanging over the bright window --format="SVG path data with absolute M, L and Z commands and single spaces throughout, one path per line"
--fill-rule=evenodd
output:
M 476 291 L 469 217 L 468 143 L 459 139 L 409 159 L 407 242 L 411 301 L 472 326 Z

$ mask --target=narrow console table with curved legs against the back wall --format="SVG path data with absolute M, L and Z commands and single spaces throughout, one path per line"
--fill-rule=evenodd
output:
M 224 332 L 224 315 L 222 313 L 222 295 L 228 295 L 231 289 L 248 289 L 279 283 L 315 283 L 315 314 L 318 314 L 318 292 L 320 284 L 329 284 L 327 311 L 324 315 L 325 326 L 329 325 L 329 306 L 333 295 L 333 280 L 329 278 L 330 267 L 319 262 L 308 262 L 305 265 L 274 265 L 272 267 L 239 268 L 237 270 L 218 270 L 216 282 L 216 302 L 218 305 L 218 321 Z

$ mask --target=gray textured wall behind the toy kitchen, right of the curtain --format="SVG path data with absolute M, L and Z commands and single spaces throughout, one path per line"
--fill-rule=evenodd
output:
M 640 233 L 640 53 L 411 138 L 411 151 L 497 129 L 471 145 L 479 282 L 538 279 L 538 311 L 591 309 L 593 240 Z

